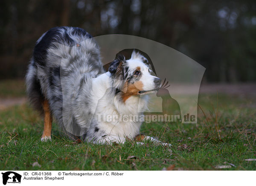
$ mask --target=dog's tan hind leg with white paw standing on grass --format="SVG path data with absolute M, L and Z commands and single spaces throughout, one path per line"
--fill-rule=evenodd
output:
M 44 109 L 44 132 L 41 137 L 42 142 L 46 142 L 47 140 L 52 140 L 51 131 L 52 131 L 52 116 L 49 108 L 49 103 L 45 99 L 43 102 Z

